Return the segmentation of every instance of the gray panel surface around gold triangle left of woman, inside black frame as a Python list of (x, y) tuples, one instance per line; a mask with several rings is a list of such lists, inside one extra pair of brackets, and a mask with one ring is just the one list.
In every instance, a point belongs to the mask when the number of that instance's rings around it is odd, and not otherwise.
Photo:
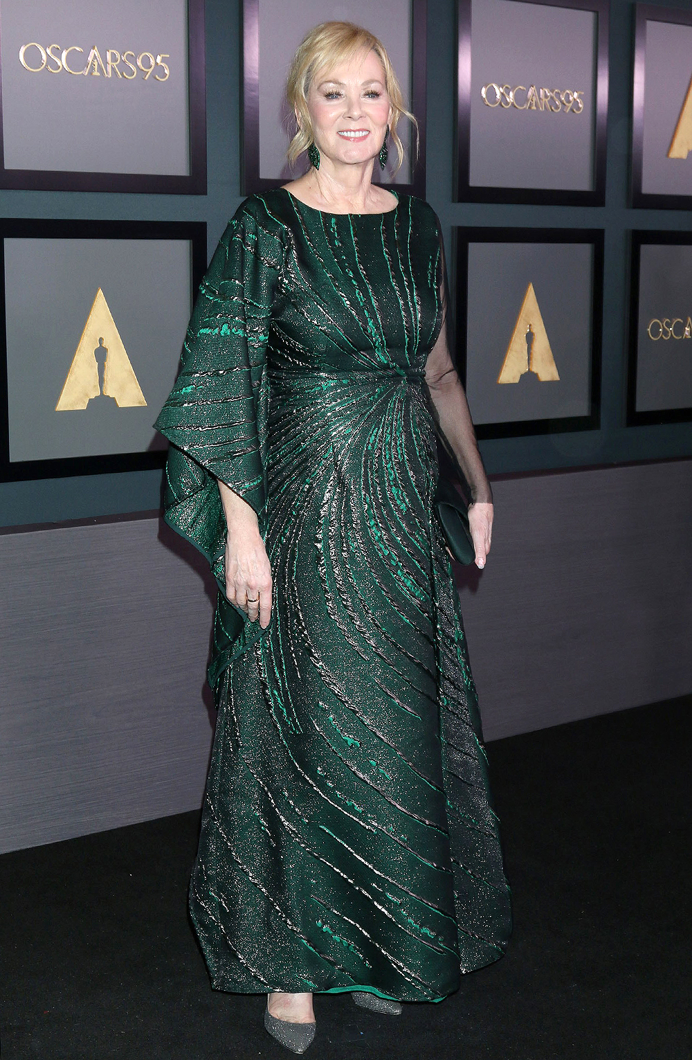
[[(5, 240), (10, 457), (139, 453), (173, 386), (191, 312), (187, 240)], [(100, 395), (55, 411), (96, 289), (103, 289), (146, 406)], [(161, 293), (164, 293), (163, 295)]]

